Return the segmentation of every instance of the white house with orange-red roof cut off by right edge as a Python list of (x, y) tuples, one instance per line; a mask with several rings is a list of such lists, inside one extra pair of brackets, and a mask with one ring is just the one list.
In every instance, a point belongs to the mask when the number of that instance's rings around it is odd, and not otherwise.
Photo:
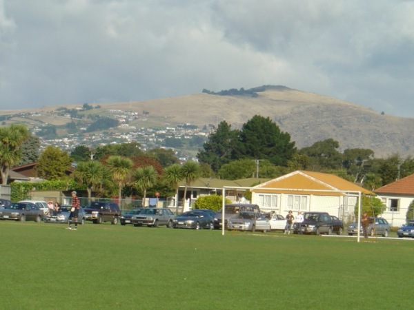
[(374, 192), (386, 205), (382, 217), (391, 226), (405, 224), (408, 207), (414, 200), (414, 174), (375, 189)]

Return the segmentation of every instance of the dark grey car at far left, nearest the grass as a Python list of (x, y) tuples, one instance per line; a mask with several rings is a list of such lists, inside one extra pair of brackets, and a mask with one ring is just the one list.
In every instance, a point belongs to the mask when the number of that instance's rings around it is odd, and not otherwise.
[(34, 203), (12, 203), (0, 211), (0, 220), (34, 220), (39, 223), (42, 218), (43, 210)]

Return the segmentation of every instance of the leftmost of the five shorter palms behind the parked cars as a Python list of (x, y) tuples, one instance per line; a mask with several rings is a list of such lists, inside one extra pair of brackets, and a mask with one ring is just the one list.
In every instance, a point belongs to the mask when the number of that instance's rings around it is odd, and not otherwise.
[(88, 200), (92, 196), (92, 189), (101, 185), (105, 176), (105, 167), (99, 161), (81, 161), (73, 174), (75, 180), (86, 185)]

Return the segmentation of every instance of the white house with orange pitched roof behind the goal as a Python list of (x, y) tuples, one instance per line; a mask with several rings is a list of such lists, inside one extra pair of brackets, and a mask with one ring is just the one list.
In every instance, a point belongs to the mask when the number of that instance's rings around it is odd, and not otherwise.
[(265, 212), (327, 211), (348, 222), (355, 219), (358, 192), (372, 192), (322, 172), (295, 171), (251, 189), (252, 203)]

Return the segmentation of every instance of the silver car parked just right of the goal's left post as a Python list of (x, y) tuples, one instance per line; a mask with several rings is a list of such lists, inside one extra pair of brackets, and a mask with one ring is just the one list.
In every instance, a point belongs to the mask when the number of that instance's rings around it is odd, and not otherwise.
[(270, 231), (270, 220), (259, 212), (239, 212), (227, 221), (228, 230)]

